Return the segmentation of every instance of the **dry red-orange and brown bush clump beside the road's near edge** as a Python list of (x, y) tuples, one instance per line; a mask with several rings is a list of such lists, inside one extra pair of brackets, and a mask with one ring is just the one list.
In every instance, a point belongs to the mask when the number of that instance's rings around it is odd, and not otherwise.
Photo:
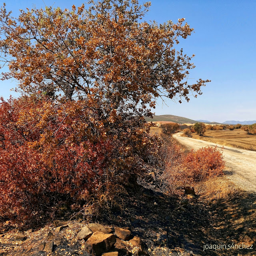
[(205, 147), (184, 153), (175, 142), (165, 143), (159, 151), (158, 164), (160, 178), (167, 181), (170, 188), (190, 186), (195, 182), (208, 180), (223, 174), (222, 152), (216, 147)]

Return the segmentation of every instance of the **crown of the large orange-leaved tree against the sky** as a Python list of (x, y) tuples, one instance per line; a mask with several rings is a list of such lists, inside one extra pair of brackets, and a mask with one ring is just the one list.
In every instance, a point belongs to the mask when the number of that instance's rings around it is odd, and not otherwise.
[[(100, 0), (72, 10), (27, 9), (12, 18), (0, 11), (2, 79), (15, 78), (25, 93), (52, 98), (94, 98), (103, 115), (110, 109), (150, 116), (158, 97), (189, 100), (201, 94), (208, 80), (188, 83), (194, 64), (179, 38), (193, 28), (184, 18), (177, 24), (141, 22), (150, 2)], [(59, 96), (59, 97), (60, 97)]]

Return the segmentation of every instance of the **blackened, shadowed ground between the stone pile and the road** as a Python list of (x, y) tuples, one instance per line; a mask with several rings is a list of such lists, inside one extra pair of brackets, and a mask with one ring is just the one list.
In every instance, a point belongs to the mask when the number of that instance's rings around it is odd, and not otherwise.
[[(223, 184), (220, 184), (220, 188), (215, 186), (215, 190), (209, 190), (209, 187), (202, 185), (198, 189), (201, 196), (190, 200), (186, 212), (177, 210), (173, 213), (169, 248), (166, 229), (177, 198), (157, 191), (154, 186), (149, 188), (140, 185), (128, 190), (124, 211), (106, 216), (104, 222), (130, 228), (133, 234), (146, 242), (152, 256), (255, 255), (255, 249), (239, 250), (235, 245), (256, 246), (256, 194), (246, 194), (229, 185), (223, 192), (221, 187), (224, 189)], [(206, 245), (212, 245), (213, 248), (206, 249)], [(222, 249), (214, 250), (214, 245), (221, 245)], [(228, 245), (231, 247), (225, 250), (224, 245), (226, 248)]]

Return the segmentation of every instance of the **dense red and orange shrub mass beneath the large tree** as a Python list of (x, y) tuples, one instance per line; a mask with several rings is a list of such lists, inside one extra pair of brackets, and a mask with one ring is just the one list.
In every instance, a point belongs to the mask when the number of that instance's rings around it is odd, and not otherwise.
[(0, 216), (33, 220), (135, 176), (152, 145), (144, 122), (115, 113), (103, 120), (98, 109), (85, 100), (2, 99)]

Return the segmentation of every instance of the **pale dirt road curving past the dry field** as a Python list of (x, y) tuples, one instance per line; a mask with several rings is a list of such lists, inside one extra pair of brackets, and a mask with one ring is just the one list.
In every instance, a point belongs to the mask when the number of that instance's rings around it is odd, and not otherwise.
[(194, 148), (198, 150), (205, 146), (217, 146), (219, 149), (224, 147), (223, 156), (226, 161), (225, 173), (227, 178), (237, 184), (242, 190), (256, 191), (256, 152), (222, 146), (204, 140), (181, 137), (181, 134), (181, 132), (178, 132), (173, 134), (173, 137), (189, 149)]

